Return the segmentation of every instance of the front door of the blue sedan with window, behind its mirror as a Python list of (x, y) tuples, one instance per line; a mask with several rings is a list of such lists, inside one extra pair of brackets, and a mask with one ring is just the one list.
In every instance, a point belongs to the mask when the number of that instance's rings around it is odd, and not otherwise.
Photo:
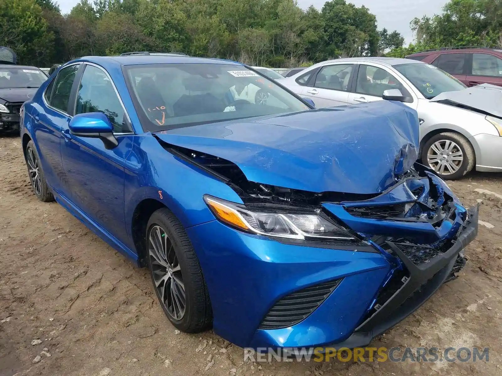
[(63, 129), (63, 169), (71, 185), (71, 201), (97, 225), (126, 243), (124, 219), (124, 162), (134, 134), (115, 88), (105, 71), (85, 65), (73, 114), (103, 112), (113, 126), (118, 146), (106, 149), (98, 138), (70, 134)]

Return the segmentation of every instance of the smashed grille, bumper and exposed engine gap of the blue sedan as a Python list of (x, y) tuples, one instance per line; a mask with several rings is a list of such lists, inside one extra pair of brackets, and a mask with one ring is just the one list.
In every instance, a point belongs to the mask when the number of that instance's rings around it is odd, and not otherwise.
[(395, 183), (379, 194), (313, 193), (250, 181), (229, 160), (159, 142), (188, 166), (228, 184), (241, 198), (241, 208), (312, 212), (348, 234), (346, 239), (312, 238), (311, 245), (356, 242), (354, 252), (382, 254), (390, 272), (359, 326), (343, 342), (347, 347), (369, 342), (455, 279), (466, 262), (463, 249), (477, 235), (478, 208), (466, 210), (442, 179), (418, 163), (396, 174)]

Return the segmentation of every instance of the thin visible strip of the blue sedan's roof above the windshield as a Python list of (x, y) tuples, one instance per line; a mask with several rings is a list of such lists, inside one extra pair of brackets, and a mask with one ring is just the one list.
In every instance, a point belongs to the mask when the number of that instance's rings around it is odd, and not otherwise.
[(197, 58), (186, 55), (127, 55), (127, 56), (84, 56), (75, 61), (87, 61), (98, 65), (143, 65), (143, 64), (230, 64), (242, 65), (231, 60)]

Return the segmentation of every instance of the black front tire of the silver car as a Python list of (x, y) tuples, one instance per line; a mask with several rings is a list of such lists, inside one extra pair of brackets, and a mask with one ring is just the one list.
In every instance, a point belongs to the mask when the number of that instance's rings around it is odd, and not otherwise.
[[(454, 144), (455, 146), (452, 149), (452, 155), (454, 155), (455, 158), (461, 157), (462, 161), (459, 160), (452, 161), (451, 159), (448, 159), (451, 158), (450, 153), (445, 152), (444, 154), (441, 153), (438, 154), (435, 150), (431, 149), (431, 147), (435, 145), (437, 150), (438, 144), (445, 146), (447, 144), (449, 144), (450, 146)], [(431, 153), (433, 154), (428, 154), (429, 150), (431, 150)], [(439, 149), (439, 151), (441, 152), (443, 150)], [(457, 155), (459, 154), (458, 153), (459, 151), (461, 152), (461, 156)], [(440, 161), (437, 162), (430, 162), (430, 160), (434, 159), (431, 158), (429, 160), (428, 155), (438, 155), (438, 157), (441, 157), (441, 159)], [(472, 145), (467, 140), (467, 138), (456, 132), (443, 132), (429, 138), (422, 148), (421, 157), (422, 157), (422, 163), (435, 169), (436, 173), (439, 176), (441, 176), (441, 178), (443, 178), (444, 180), (455, 180), (461, 178), (462, 176), (464, 176), (465, 174), (467, 174), (472, 170), (475, 163), (475, 155)], [(445, 167), (443, 168), (442, 172), (440, 172), (441, 171), (440, 163), (445, 164)], [(450, 167), (446, 165), (448, 163), (450, 166), (451, 163), (455, 164), (457, 169), (455, 170), (455, 166)]]

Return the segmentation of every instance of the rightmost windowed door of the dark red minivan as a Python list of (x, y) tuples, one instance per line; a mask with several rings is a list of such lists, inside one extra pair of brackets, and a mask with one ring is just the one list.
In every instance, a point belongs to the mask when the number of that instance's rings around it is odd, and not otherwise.
[(502, 86), (502, 59), (495, 54), (469, 54), (472, 68), (467, 75), (467, 86), (492, 84)]

